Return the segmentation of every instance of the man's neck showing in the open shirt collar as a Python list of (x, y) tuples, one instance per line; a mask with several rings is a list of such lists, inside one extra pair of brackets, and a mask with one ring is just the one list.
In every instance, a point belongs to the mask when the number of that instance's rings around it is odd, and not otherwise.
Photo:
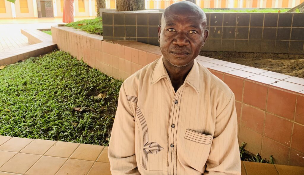
[(183, 67), (171, 65), (171, 63), (166, 58), (163, 58), (163, 62), (168, 72), (174, 91), (176, 92), (178, 88), (184, 84), (184, 81), (194, 64), (194, 61)]

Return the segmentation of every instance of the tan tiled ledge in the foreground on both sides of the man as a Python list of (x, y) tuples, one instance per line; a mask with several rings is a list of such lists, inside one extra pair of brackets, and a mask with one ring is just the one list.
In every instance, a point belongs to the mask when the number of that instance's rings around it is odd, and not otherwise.
[[(110, 175), (108, 147), (0, 136), (0, 175)], [(242, 175), (300, 175), (304, 167), (242, 162)]]

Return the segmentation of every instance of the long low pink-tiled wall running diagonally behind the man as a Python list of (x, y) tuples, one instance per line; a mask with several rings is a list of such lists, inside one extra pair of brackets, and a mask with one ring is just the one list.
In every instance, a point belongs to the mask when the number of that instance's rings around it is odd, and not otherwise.
[[(102, 41), (102, 36), (52, 27), (59, 49), (89, 66), (126, 79), (161, 56), (159, 47), (136, 41)], [(304, 166), (304, 79), (204, 56), (197, 61), (234, 92), (239, 142), (277, 164)]]

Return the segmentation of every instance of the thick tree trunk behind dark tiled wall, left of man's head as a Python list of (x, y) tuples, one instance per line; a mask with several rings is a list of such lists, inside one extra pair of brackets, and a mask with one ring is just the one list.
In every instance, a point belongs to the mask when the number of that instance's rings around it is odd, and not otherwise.
[(116, 0), (116, 12), (145, 10), (145, 0)]

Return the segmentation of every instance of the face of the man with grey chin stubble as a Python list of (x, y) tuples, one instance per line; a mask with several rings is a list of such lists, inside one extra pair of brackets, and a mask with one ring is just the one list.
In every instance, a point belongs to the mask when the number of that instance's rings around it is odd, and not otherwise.
[(188, 65), (200, 52), (208, 37), (203, 20), (189, 12), (170, 13), (158, 26), (161, 53), (177, 67)]

